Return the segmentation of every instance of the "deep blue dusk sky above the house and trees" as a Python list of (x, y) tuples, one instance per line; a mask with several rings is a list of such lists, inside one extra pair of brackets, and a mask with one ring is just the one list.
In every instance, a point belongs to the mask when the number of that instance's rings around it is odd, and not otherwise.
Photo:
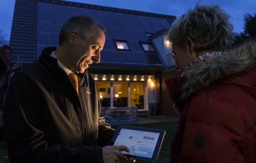
[[(187, 9), (193, 8), (198, 0), (68, 0), (85, 4), (130, 9), (135, 11), (173, 15), (179, 17)], [(0, 0), (0, 31), (9, 40), (15, 0)], [(256, 13), (256, 0), (201, 0), (200, 4), (218, 4), (231, 17), (234, 32), (240, 33), (244, 29), (244, 15)]]

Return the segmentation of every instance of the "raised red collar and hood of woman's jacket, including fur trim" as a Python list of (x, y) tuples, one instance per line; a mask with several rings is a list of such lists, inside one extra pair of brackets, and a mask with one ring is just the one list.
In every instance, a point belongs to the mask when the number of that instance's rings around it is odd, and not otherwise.
[[(220, 80), (238, 85), (256, 98), (256, 45), (254, 46), (241, 46), (225, 55), (197, 58), (190, 70), (181, 77), (166, 80), (168, 92), (177, 108), (194, 93)], [(251, 48), (253, 49), (250, 50)]]

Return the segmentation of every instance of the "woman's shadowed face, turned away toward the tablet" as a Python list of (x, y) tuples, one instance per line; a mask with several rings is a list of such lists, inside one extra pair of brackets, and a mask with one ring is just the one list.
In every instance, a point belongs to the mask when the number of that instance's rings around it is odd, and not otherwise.
[(194, 59), (196, 59), (196, 54), (194, 51), (189, 51), (190, 46), (186, 44), (184, 47), (179, 47), (172, 45), (172, 54), (175, 56), (176, 66), (179, 67), (180, 71), (184, 70)]

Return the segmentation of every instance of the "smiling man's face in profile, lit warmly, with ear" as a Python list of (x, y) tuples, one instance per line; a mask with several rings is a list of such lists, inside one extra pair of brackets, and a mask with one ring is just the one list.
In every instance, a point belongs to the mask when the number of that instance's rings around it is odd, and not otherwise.
[(99, 63), (104, 44), (105, 34), (99, 28), (95, 28), (94, 35), (85, 40), (78, 36), (73, 46), (73, 55), (69, 58), (71, 71), (84, 73), (90, 64)]

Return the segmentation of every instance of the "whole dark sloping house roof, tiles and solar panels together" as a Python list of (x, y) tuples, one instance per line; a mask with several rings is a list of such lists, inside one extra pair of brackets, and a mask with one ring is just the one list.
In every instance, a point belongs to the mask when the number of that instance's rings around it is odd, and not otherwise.
[[(58, 46), (63, 23), (73, 15), (94, 17), (107, 29), (99, 65), (161, 67), (157, 53), (145, 52), (140, 42), (150, 42), (147, 33), (169, 28), (175, 16), (103, 7), (60, 0), (16, 0), (10, 47), (19, 61), (37, 60), (41, 50)], [(125, 40), (130, 51), (120, 51), (115, 40)]]

